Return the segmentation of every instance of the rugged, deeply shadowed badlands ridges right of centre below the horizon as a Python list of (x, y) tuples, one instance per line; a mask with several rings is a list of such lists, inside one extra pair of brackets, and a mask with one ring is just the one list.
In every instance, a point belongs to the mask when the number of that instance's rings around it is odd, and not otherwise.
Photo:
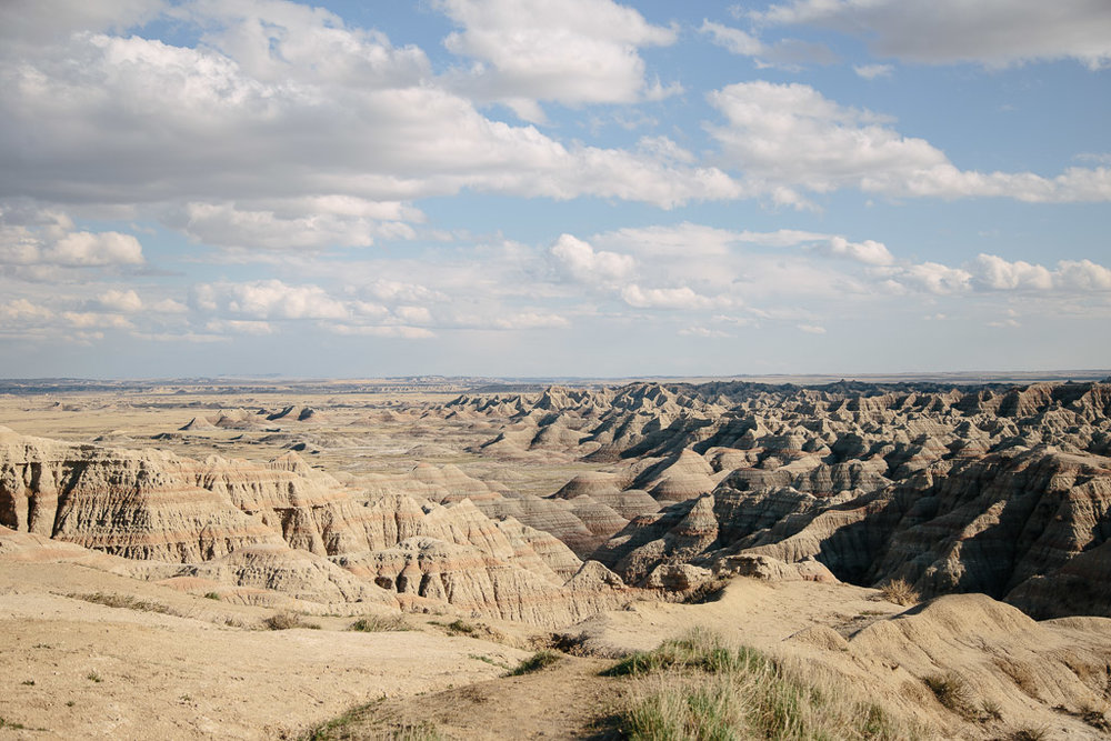
[[(618, 467), (564, 490), (662, 507), (621, 511), (629, 524), (590, 553), (630, 583), (752, 553), (1035, 617), (1111, 615), (1107, 383), (631, 384), (444, 409), (506, 415), (491, 454), (558, 439)], [(544, 435), (553, 425), (575, 435)]]

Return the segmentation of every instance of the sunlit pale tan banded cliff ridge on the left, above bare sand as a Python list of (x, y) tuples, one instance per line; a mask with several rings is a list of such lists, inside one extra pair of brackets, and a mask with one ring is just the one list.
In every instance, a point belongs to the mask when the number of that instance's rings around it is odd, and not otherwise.
[(122, 557), (150, 578), (553, 625), (627, 599), (604, 568), (466, 497), (357, 494), (293, 453), (196, 461), (0, 431), (0, 524)]

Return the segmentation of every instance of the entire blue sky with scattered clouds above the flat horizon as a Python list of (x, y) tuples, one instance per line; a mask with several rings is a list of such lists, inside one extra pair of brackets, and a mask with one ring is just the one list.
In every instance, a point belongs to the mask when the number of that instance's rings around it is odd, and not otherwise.
[(3, 0), (0, 377), (1111, 368), (1107, 0)]

